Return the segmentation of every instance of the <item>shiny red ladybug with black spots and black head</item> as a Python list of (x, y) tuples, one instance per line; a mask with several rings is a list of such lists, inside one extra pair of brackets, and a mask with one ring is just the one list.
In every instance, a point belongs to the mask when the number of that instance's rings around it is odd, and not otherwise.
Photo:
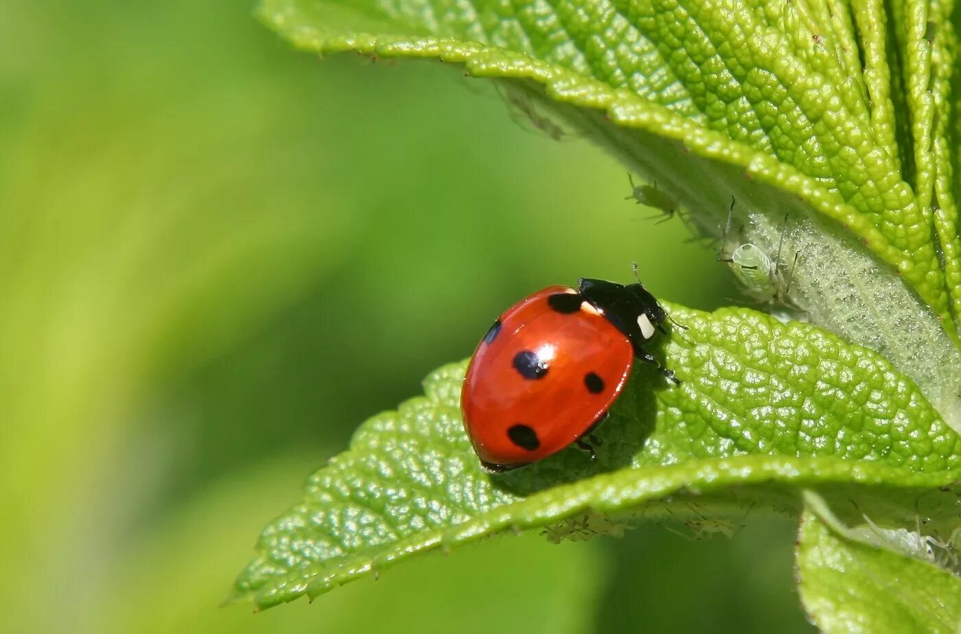
[(480, 340), (460, 394), (483, 467), (516, 469), (572, 443), (591, 451), (581, 438), (621, 394), (634, 357), (660, 367), (644, 345), (667, 333), (667, 318), (640, 280), (548, 286), (508, 308)]

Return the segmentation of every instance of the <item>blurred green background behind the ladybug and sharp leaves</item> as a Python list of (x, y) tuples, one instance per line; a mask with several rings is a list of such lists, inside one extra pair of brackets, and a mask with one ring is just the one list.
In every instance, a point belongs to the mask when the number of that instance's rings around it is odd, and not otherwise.
[(0, 629), (808, 629), (794, 527), (760, 516), (219, 607), (306, 476), (506, 305), (634, 260), (685, 305), (737, 292), (613, 158), (455, 68), (318, 61), (244, 2), (3, 4)]

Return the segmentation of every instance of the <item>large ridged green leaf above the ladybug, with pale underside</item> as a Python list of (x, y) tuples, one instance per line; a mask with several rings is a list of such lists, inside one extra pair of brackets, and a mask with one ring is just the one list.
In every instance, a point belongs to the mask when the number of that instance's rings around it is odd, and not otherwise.
[[(949, 5), (261, 0), (300, 49), (462, 64), (577, 126), (697, 232), (800, 254), (788, 293), (961, 430)], [(860, 55), (859, 55), (860, 53)], [(518, 95), (520, 95), (518, 97)], [(919, 301), (919, 299), (921, 301)]]

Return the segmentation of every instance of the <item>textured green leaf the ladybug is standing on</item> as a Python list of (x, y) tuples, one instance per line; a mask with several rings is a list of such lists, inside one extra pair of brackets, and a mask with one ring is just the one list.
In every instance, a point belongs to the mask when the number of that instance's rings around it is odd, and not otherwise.
[[(459, 410), (464, 364), (441, 368), (424, 398), (359, 427), (350, 450), (269, 524), (236, 582), (260, 607), (315, 597), (416, 552), (504, 531), (614, 532), (625, 524), (745, 508), (800, 510), (797, 488), (830, 483), (903, 522), (916, 505), (955, 512), (961, 438), (917, 386), (871, 351), (744, 309), (668, 305), (657, 354), (681, 379), (638, 368), (600, 427), (597, 459), (562, 451), (504, 476), (481, 469)], [(710, 510), (708, 510), (710, 509)]]

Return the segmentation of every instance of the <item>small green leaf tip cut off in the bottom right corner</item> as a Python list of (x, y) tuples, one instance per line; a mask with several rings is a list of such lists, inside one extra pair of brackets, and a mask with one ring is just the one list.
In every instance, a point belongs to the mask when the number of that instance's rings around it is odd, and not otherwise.
[(825, 632), (945, 632), (961, 625), (961, 579), (850, 536), (810, 494), (797, 547), (801, 599)]

